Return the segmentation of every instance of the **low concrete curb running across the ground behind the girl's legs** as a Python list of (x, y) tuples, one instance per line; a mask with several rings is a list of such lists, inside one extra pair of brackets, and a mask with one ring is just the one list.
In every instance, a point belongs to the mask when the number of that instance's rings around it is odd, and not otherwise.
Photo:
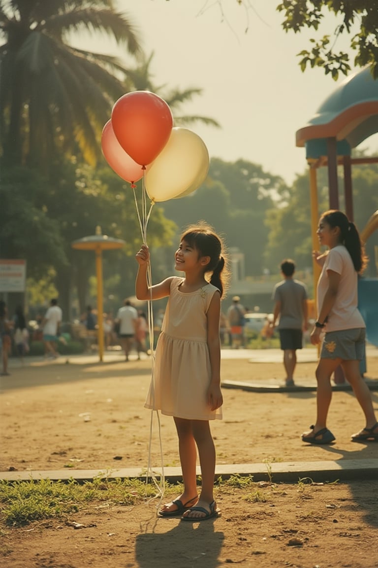
[[(161, 467), (154, 467), (153, 473), (160, 477)], [(197, 475), (201, 470), (197, 467)], [(228, 479), (232, 475), (253, 476), (253, 481), (273, 481), (275, 483), (298, 483), (299, 479), (310, 478), (315, 482), (358, 481), (378, 478), (378, 459), (371, 460), (340, 460), (318, 462), (273, 462), (273, 463), (233, 463), (219, 465), (215, 477)], [(165, 467), (164, 477), (175, 483), (182, 480), (180, 467)], [(146, 479), (146, 470), (134, 467), (108, 470), (42, 470), (42, 471), (1, 471), (0, 479), (9, 482), (39, 481), (69, 481), (75, 479), (79, 483), (93, 481), (95, 478), (108, 479)]]

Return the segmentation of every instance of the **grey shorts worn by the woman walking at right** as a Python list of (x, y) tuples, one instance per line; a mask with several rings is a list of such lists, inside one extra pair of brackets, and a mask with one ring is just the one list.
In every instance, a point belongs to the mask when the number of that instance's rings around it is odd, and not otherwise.
[(326, 332), (320, 358), (362, 361), (365, 356), (365, 336), (363, 327)]

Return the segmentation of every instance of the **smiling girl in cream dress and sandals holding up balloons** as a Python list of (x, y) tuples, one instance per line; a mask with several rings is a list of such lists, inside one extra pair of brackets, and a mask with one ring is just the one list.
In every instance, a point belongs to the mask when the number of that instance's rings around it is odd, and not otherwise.
[[(148, 287), (150, 252), (143, 245), (136, 255), (135, 293), (139, 300), (169, 296), (156, 345), (155, 381), (145, 406), (175, 420), (184, 491), (165, 504), (159, 515), (201, 521), (220, 513), (213, 495), (215, 448), (209, 420), (222, 418), (219, 315), (226, 270), (222, 282), (222, 241), (207, 225), (189, 227), (180, 241), (175, 268), (185, 277), (171, 276)], [(206, 274), (211, 274), (210, 283)], [(202, 474), (199, 498), (196, 446)]]

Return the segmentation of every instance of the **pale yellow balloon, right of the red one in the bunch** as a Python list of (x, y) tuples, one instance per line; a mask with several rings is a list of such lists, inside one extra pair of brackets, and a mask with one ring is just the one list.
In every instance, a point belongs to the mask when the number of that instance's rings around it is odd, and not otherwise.
[(203, 140), (187, 128), (172, 128), (162, 152), (146, 173), (152, 201), (167, 201), (195, 191), (209, 171), (209, 152)]

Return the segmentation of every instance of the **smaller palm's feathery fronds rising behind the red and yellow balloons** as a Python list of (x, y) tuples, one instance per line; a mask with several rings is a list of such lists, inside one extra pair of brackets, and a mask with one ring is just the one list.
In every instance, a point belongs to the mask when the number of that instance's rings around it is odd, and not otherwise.
[(180, 91), (179, 89), (167, 90), (167, 85), (155, 85), (150, 70), (151, 61), (154, 55), (154, 52), (152, 52), (150, 57), (142, 56), (142, 60), (138, 61), (138, 65), (135, 68), (126, 70), (129, 80), (134, 85), (134, 89), (138, 91), (152, 91), (152, 93), (156, 93), (162, 97), (172, 110), (176, 126), (188, 126), (194, 122), (201, 122), (202, 124), (208, 124), (209, 126), (219, 128), (219, 123), (213, 118), (209, 118), (207, 116), (188, 116), (179, 114), (182, 105), (188, 101), (192, 101), (193, 97), (196, 95), (201, 95), (202, 89), (189, 87), (184, 91)]

